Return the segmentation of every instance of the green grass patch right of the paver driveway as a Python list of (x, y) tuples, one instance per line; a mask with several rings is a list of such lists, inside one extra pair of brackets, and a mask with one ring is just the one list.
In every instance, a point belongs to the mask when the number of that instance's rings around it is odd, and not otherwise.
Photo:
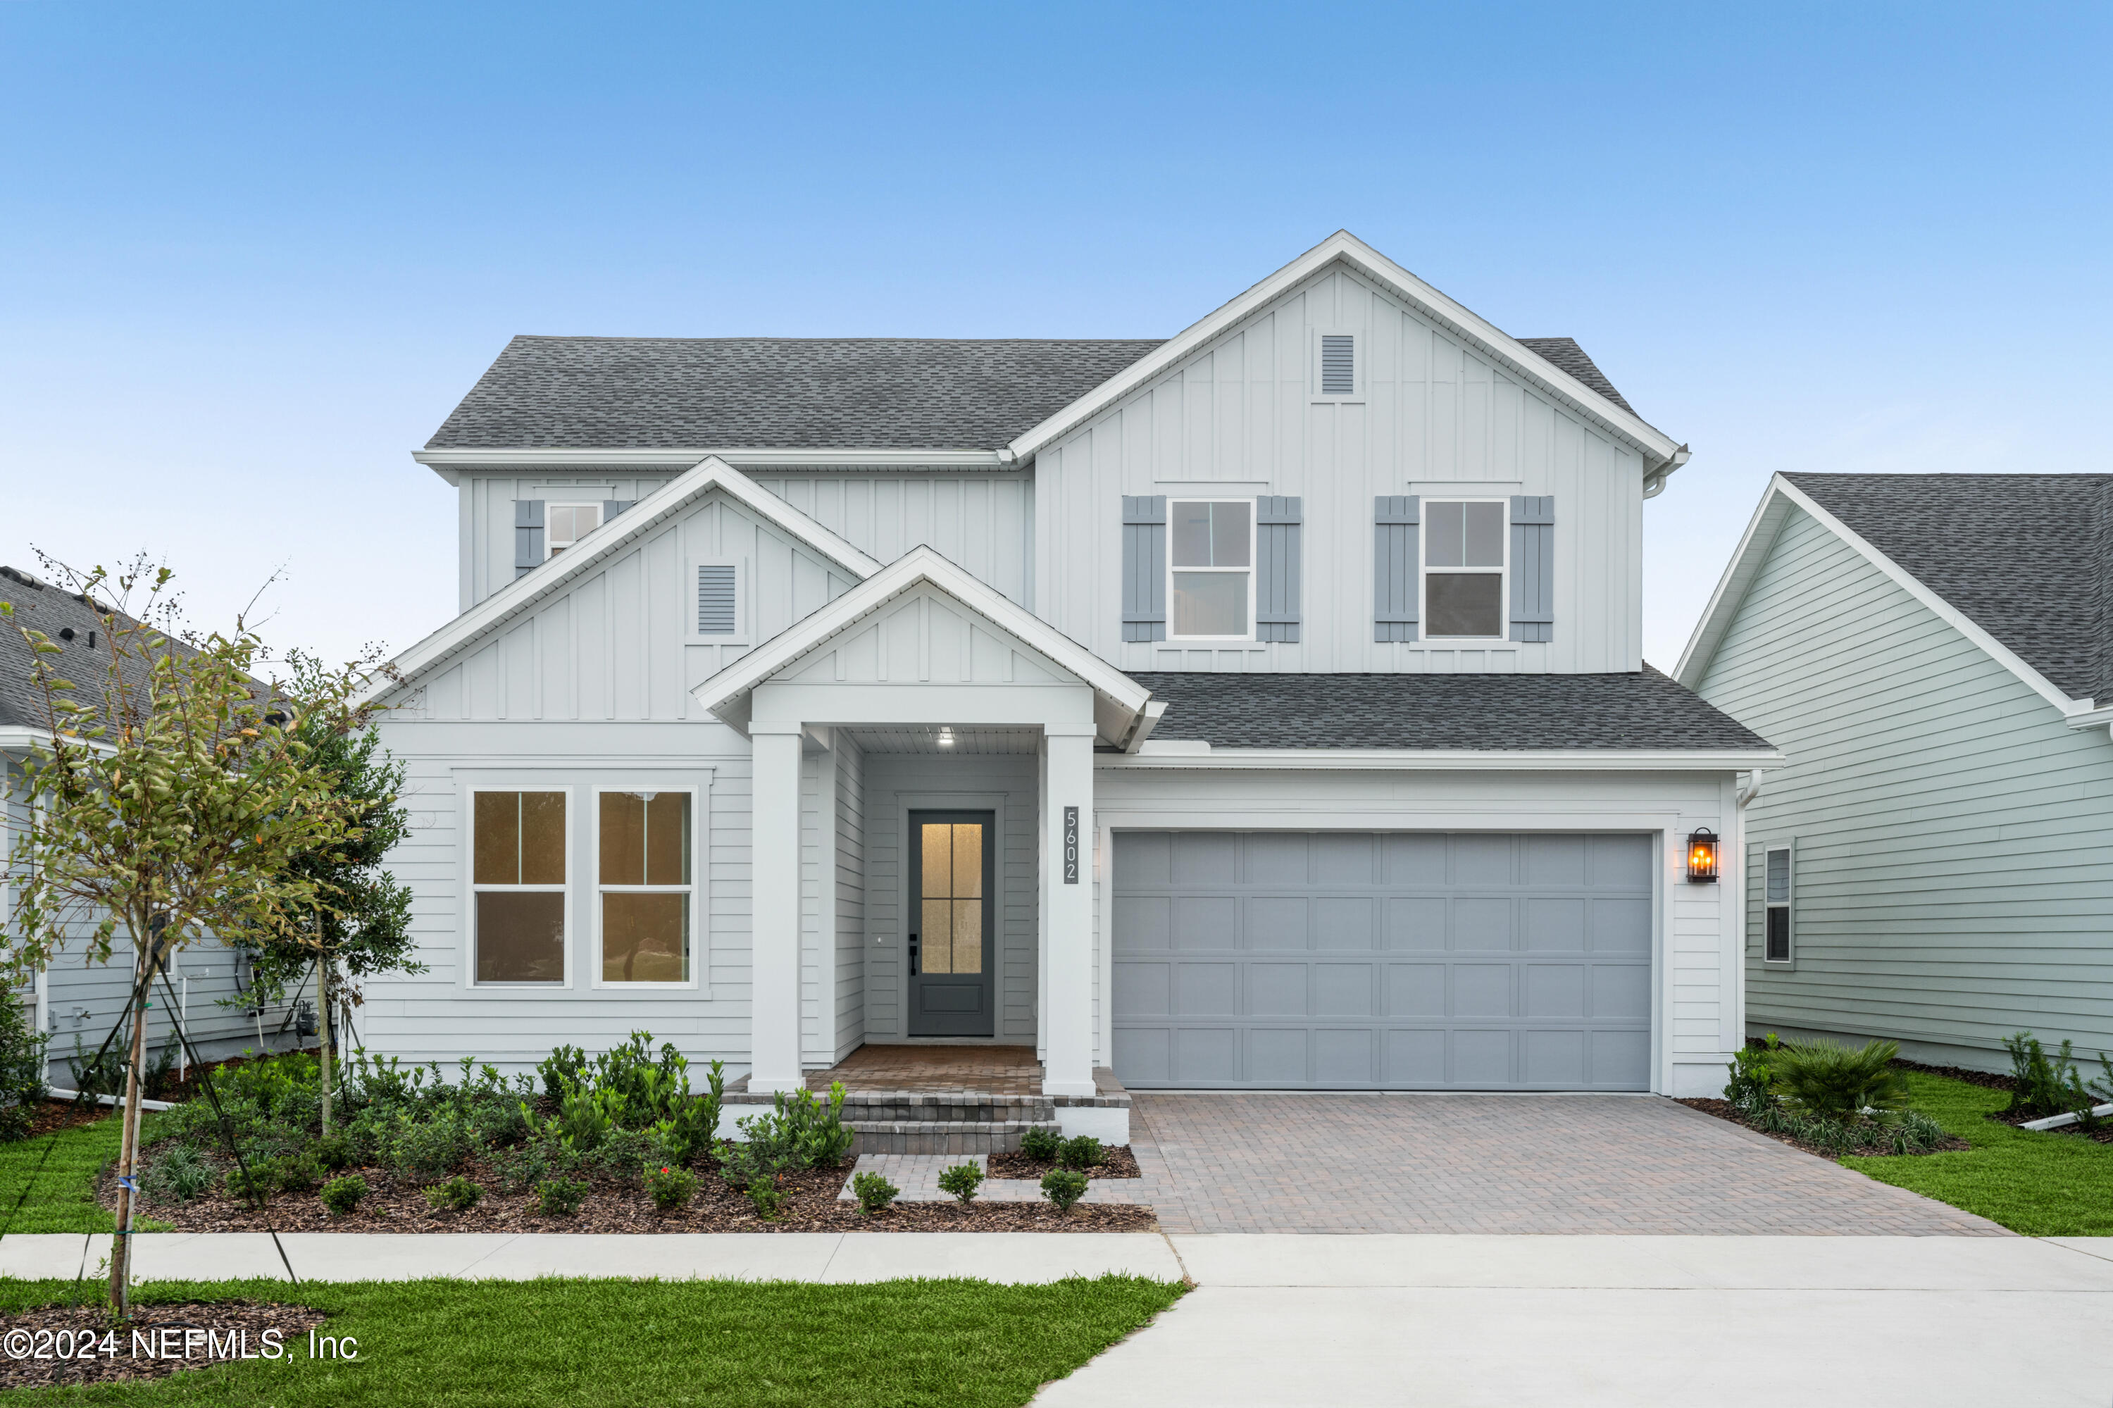
[(1843, 1165), (2028, 1237), (2113, 1237), (2113, 1144), (1982, 1118), (2009, 1101), (2003, 1091), (1925, 1072), (1908, 1072), (1908, 1085), (1916, 1110), (1974, 1148)]

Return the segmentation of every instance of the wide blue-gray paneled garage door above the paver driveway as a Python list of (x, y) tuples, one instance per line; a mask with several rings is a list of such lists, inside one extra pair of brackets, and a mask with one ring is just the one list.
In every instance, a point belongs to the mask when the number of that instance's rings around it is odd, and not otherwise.
[(1135, 1089), (1650, 1085), (1650, 837), (1118, 831)]

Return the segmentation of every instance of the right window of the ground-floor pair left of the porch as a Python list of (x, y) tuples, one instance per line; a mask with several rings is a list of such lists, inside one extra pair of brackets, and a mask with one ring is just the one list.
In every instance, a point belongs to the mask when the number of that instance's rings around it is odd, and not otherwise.
[(687, 789), (596, 793), (598, 985), (691, 981), (693, 801)]

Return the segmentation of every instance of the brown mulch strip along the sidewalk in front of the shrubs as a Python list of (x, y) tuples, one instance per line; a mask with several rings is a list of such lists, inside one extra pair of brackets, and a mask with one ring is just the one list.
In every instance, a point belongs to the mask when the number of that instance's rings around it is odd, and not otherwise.
[[(347, 1218), (332, 1218), (313, 1192), (279, 1192), (264, 1211), (226, 1197), (218, 1186), (190, 1203), (142, 1203), (139, 1211), (177, 1233), (1156, 1233), (1149, 1207), (1084, 1205), (1059, 1214), (1048, 1203), (896, 1203), (864, 1216), (839, 1201), (852, 1165), (805, 1169), (784, 1180), (778, 1218), (765, 1222), (748, 1197), (718, 1173), (697, 1171), (697, 1197), (682, 1211), (653, 1207), (644, 1188), (613, 1178), (587, 1178), (590, 1192), (573, 1216), (545, 1216), (532, 1192), (501, 1192), (482, 1163), (465, 1173), (484, 1188), (469, 1211), (433, 1211), (425, 1188), (382, 1169), (357, 1169), (368, 1197)], [(104, 1175), (97, 1197), (116, 1207), (116, 1184)]]

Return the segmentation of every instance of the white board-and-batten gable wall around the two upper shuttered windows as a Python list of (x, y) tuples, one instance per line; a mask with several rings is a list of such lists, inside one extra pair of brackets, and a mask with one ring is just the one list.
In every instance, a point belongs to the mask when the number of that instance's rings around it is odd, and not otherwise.
[[(1314, 400), (1357, 332), (1365, 395)], [(1122, 641), (1122, 497), (1304, 501), (1299, 641)], [(1553, 497), (1555, 630), (1373, 641), (1373, 499)], [(1642, 666), (1642, 459), (1344, 268), (1257, 311), (1035, 463), (1035, 611), (1126, 670), (1606, 672)]]

